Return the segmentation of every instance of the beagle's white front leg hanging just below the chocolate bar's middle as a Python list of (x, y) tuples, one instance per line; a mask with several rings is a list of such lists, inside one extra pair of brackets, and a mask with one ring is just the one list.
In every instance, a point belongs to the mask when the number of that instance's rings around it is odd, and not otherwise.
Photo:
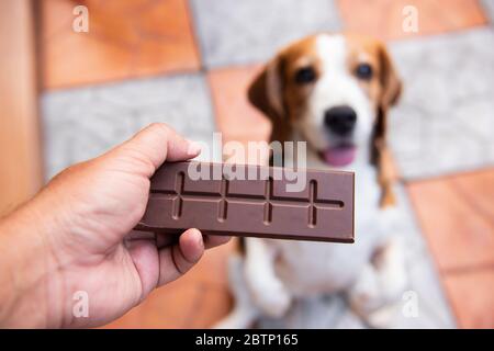
[(246, 240), (245, 276), (254, 303), (270, 317), (283, 316), (292, 296), (274, 271), (274, 248), (265, 239)]

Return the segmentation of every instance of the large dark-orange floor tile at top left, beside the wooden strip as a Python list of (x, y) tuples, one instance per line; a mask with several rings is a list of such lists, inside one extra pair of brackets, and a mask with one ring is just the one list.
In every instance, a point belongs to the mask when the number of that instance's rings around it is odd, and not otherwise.
[[(72, 31), (76, 3), (89, 33)], [(200, 68), (187, 0), (44, 0), (42, 81), (64, 88)]]

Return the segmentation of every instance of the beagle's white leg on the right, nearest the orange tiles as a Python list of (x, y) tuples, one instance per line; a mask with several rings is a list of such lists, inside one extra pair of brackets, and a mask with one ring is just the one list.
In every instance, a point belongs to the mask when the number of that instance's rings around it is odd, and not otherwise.
[(370, 326), (385, 327), (407, 285), (402, 245), (390, 239), (380, 247), (349, 292), (351, 308)]

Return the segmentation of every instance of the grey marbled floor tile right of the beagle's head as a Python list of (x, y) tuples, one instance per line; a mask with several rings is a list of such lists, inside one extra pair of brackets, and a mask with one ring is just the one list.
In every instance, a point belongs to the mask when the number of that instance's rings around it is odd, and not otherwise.
[(407, 179), (494, 165), (494, 31), (391, 45), (404, 95), (390, 141)]

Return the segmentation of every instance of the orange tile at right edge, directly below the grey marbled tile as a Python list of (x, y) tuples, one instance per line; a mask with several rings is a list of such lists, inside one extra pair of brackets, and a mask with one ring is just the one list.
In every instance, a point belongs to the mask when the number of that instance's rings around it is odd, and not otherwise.
[(442, 272), (494, 264), (494, 170), (407, 185)]

